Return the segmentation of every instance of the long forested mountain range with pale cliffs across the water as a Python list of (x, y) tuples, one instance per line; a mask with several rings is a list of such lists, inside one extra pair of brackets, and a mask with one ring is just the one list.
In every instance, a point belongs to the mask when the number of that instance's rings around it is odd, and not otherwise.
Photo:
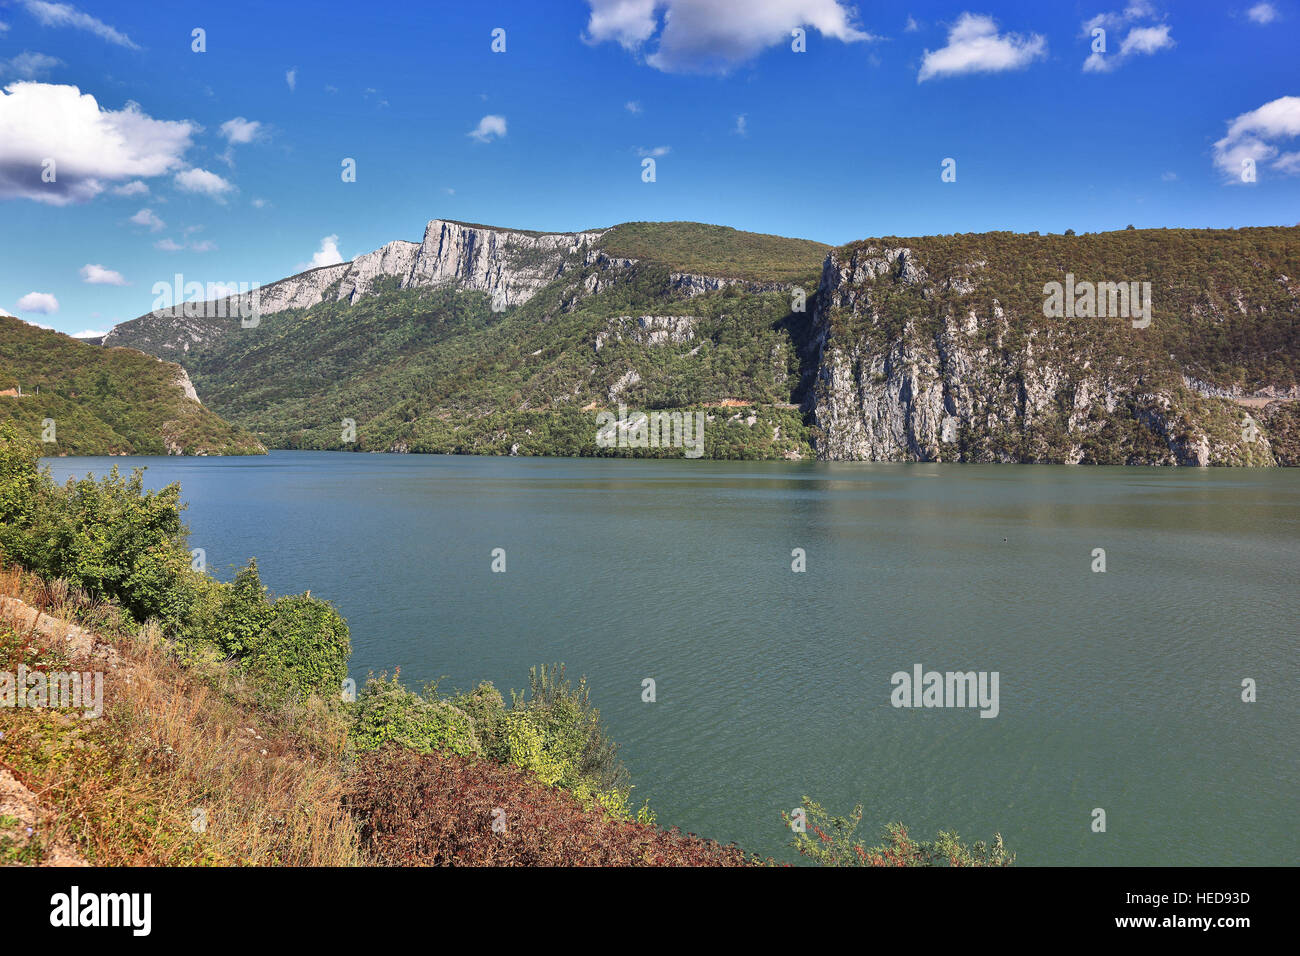
[[(710, 458), (1294, 464), (1297, 271), (1280, 226), (832, 248), (433, 220), (104, 346), (182, 363), (269, 447), (677, 457), (601, 444), (595, 421), (680, 411), (705, 416)], [(1145, 321), (1124, 312), (1143, 295)]]

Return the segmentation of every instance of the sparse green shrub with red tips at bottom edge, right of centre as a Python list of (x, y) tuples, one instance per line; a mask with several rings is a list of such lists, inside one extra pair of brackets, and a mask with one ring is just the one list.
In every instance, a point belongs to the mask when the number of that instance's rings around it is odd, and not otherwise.
[[(941, 830), (933, 840), (914, 840), (902, 823), (884, 827), (884, 843), (867, 847), (857, 839), (862, 804), (848, 817), (832, 816), (820, 804), (803, 797), (802, 830), (794, 831), (790, 847), (823, 866), (1010, 866), (1015, 853), (1006, 849), (1002, 835), (993, 843), (965, 844), (956, 832)], [(790, 814), (781, 814), (792, 823)]]

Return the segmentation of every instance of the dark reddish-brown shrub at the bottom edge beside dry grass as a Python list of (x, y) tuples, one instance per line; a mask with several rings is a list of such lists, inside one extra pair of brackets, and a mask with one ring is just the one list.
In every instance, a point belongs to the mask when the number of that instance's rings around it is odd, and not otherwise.
[(734, 847), (611, 819), (512, 766), (386, 747), (351, 779), (369, 857), (393, 866), (745, 866)]

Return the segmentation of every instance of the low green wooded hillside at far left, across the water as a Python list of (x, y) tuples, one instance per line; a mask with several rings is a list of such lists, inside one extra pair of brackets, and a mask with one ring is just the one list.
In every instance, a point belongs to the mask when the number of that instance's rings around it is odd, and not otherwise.
[(221, 455), (265, 449), (187, 398), (178, 365), (133, 349), (101, 349), (0, 316), (0, 423), (43, 441), (47, 455)]

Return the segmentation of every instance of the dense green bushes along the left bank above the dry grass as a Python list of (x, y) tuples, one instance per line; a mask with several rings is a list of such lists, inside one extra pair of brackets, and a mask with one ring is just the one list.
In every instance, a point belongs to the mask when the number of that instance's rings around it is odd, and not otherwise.
[(269, 696), (337, 700), (351, 653), (343, 618), (306, 594), (270, 601), (255, 561), (230, 584), (192, 570), (182, 507), (179, 485), (147, 492), (143, 470), (58, 486), (31, 440), (0, 424), (5, 559), (156, 619), (188, 656), (230, 659)]

